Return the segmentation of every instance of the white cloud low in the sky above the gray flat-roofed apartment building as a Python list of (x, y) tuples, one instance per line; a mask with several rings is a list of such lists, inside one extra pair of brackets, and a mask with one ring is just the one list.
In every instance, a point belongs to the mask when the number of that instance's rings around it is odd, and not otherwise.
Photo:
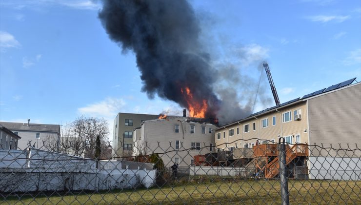
[(110, 118), (115, 117), (125, 104), (123, 99), (107, 98), (101, 102), (80, 107), (78, 111), (86, 116)]

